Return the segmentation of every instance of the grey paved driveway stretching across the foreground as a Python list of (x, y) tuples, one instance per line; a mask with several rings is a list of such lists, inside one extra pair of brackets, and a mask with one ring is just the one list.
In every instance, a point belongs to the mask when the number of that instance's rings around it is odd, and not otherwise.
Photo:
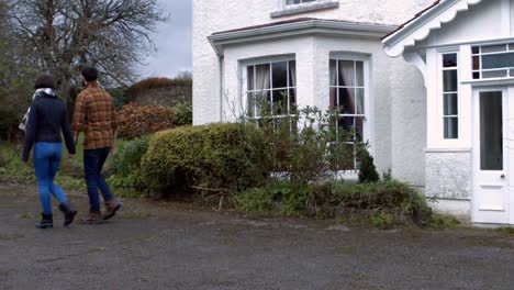
[[(71, 196), (82, 210), (83, 196)], [(247, 220), (128, 200), (108, 224), (37, 230), (0, 183), (0, 289), (514, 289), (514, 236)], [(58, 215), (60, 217), (60, 214)]]

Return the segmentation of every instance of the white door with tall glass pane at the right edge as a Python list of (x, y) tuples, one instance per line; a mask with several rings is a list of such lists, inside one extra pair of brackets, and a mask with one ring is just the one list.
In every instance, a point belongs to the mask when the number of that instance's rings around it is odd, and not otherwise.
[(473, 94), (473, 222), (509, 224), (507, 89), (477, 89)]

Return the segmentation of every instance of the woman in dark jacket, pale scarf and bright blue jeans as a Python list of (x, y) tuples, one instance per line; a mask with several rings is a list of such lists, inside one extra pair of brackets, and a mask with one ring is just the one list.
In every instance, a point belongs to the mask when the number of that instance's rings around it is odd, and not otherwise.
[(59, 201), (59, 210), (65, 216), (64, 225), (69, 225), (77, 211), (70, 205), (65, 192), (54, 183), (63, 156), (63, 138), (69, 154), (75, 154), (74, 137), (68, 122), (66, 104), (57, 98), (55, 81), (52, 76), (41, 76), (35, 82), (35, 93), (25, 121), (25, 137), (23, 144), (23, 160), (34, 147), (34, 170), (43, 207), (40, 228), (53, 227), (52, 200), (53, 194)]

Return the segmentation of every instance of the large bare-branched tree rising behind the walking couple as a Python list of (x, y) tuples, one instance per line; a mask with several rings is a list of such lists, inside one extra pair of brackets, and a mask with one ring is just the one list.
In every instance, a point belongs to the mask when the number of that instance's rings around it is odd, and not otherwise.
[(32, 64), (68, 93), (88, 65), (104, 85), (131, 82), (134, 65), (155, 52), (150, 33), (167, 16), (156, 0), (16, 0), (9, 20)]

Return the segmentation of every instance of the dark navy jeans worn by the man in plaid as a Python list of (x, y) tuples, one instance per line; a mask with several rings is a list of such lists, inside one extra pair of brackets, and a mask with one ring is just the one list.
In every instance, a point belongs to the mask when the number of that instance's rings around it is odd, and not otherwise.
[(102, 176), (103, 164), (109, 156), (110, 147), (83, 150), (83, 175), (89, 197), (89, 212), (100, 213), (100, 197), (98, 189), (102, 192), (105, 202), (112, 200), (114, 196), (109, 189)]

